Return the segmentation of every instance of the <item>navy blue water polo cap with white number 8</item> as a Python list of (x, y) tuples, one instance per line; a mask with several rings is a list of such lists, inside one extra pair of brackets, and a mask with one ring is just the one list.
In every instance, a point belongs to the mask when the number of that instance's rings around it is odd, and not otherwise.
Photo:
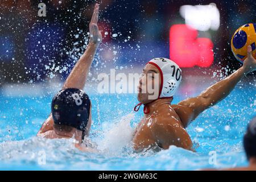
[(75, 127), (84, 133), (90, 115), (90, 99), (83, 90), (60, 90), (52, 99), (51, 109), (55, 124)]

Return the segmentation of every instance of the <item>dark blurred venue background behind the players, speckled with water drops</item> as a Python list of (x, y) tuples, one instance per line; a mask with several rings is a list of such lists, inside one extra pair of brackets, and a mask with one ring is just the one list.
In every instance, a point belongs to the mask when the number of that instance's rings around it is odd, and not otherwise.
[[(46, 3), (46, 17), (38, 16), (40, 2)], [(0, 86), (48, 82), (54, 78), (63, 81), (85, 50), (95, 2), (2, 0)], [(222, 67), (230, 68), (229, 73), (239, 68), (241, 63), (232, 54), (230, 39), (242, 24), (256, 22), (254, 1), (104, 0), (98, 1), (99, 27), (104, 39), (91, 72), (97, 74), (107, 68), (141, 70), (152, 57), (169, 57), (170, 27), (184, 23), (180, 6), (212, 2), (220, 11), (220, 27), (207, 32), (214, 44), (214, 63), (209, 68), (183, 70), (213, 76), (218, 69), (225, 72)]]

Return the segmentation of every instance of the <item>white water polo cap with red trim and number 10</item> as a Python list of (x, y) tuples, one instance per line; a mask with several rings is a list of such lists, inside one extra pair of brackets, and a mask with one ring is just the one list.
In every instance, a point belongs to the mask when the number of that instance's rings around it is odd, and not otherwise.
[[(156, 68), (158, 68), (160, 72), (161, 85), (159, 88), (159, 95), (157, 99), (171, 98), (172, 96), (174, 96), (181, 82), (180, 67), (176, 63), (174, 63), (174, 61), (163, 57), (154, 58), (148, 61), (147, 64), (154, 65)], [(141, 105), (142, 103), (139, 103), (137, 106), (135, 106), (134, 111), (138, 111)], [(144, 113), (149, 113), (149, 109), (146, 106), (144, 107)]]

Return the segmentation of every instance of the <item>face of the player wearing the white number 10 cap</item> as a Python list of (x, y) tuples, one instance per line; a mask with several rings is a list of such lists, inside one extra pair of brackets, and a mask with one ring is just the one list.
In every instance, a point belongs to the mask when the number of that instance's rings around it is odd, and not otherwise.
[(147, 104), (158, 98), (161, 84), (160, 72), (152, 64), (147, 64), (144, 69), (138, 85), (138, 101)]

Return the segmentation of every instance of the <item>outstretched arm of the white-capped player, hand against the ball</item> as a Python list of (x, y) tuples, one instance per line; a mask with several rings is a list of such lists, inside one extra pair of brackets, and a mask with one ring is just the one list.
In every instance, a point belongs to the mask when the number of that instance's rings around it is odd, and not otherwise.
[(251, 46), (248, 46), (247, 58), (243, 62), (242, 67), (232, 73), (232, 75), (210, 86), (199, 96), (188, 98), (174, 106), (175, 111), (181, 116), (181, 121), (183, 121), (185, 127), (205, 109), (217, 104), (228, 96), (243, 76), (256, 70), (256, 60), (251, 55), (251, 51)]

